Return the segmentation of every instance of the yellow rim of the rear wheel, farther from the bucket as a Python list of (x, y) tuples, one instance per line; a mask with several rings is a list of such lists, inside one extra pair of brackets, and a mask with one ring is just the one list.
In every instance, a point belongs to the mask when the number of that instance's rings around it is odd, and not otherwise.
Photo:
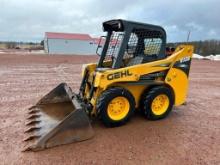
[(170, 104), (170, 100), (167, 95), (165, 94), (158, 95), (153, 99), (153, 102), (151, 104), (152, 112), (155, 115), (162, 115), (167, 111), (169, 104)]

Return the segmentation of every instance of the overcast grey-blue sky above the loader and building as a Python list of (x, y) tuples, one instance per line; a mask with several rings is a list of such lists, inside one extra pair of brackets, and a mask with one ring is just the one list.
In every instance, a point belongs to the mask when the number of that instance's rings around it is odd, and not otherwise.
[(163, 26), (168, 41), (220, 39), (219, 0), (0, 0), (0, 40), (40, 41), (44, 32), (102, 35), (122, 18)]

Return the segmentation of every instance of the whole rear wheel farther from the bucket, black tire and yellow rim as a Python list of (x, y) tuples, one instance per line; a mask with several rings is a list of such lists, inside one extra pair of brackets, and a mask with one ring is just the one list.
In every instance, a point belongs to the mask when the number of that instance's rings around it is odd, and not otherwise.
[(143, 112), (147, 119), (163, 119), (172, 110), (174, 96), (171, 89), (164, 86), (158, 86), (152, 88), (145, 95), (143, 103)]

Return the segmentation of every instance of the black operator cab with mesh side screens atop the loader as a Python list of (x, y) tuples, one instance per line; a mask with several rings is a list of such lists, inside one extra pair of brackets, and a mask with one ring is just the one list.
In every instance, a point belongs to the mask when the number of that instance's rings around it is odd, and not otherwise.
[(126, 20), (103, 23), (107, 32), (97, 68), (118, 69), (166, 58), (166, 32), (156, 25)]

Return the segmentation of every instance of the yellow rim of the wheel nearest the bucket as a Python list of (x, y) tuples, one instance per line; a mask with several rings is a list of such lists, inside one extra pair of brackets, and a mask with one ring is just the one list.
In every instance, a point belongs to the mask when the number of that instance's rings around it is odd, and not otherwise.
[(128, 99), (125, 97), (116, 97), (110, 101), (107, 108), (107, 113), (110, 119), (118, 121), (124, 119), (130, 109)]

